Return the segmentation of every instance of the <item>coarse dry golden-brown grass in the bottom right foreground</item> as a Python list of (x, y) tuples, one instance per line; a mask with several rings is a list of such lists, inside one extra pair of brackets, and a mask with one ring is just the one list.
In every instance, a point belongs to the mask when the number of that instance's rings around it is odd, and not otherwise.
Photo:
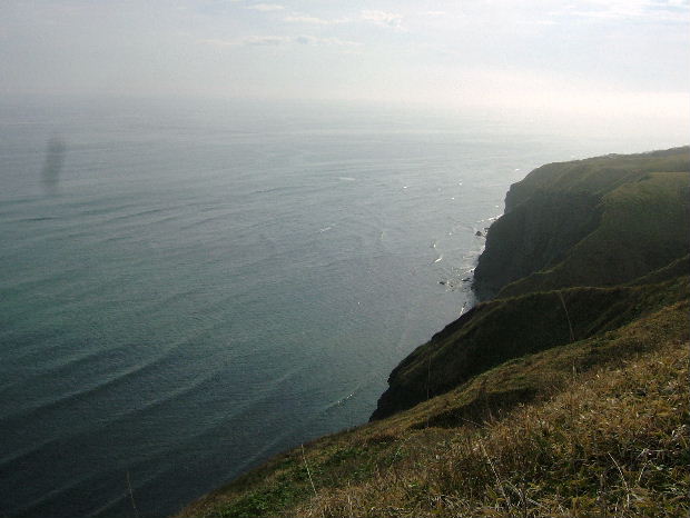
[[(405, 458), (287, 516), (687, 516), (690, 347), (576, 375), (480, 428), (418, 432)], [(431, 430), (430, 430), (431, 431)]]

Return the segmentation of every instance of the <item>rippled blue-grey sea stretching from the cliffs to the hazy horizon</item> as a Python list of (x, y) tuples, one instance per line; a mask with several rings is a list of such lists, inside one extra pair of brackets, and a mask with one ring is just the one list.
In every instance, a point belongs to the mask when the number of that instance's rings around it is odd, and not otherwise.
[(520, 127), (4, 102), (0, 515), (135, 516), (129, 479), (139, 514), (165, 516), (366, 421), (391, 369), (472, 303), (475, 232), (510, 183), (663, 147)]

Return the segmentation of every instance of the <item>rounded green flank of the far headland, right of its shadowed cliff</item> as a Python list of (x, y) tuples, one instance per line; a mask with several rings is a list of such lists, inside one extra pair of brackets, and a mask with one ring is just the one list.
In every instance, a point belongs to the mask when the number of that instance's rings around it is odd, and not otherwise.
[(690, 173), (650, 173), (602, 199), (600, 225), (555, 267), (504, 287), (510, 297), (564, 286), (612, 286), (690, 251)]

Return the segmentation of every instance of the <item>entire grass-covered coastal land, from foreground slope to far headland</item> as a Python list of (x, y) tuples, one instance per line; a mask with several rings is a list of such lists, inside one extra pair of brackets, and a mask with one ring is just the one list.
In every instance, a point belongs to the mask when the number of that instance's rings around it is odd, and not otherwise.
[[(533, 171), (484, 252), (509, 263), (505, 250), (533, 246), (521, 252), (545, 256), (532, 271), (494, 282), (499, 298), (404, 359), (371, 422), (179, 516), (688, 516), (689, 151)], [(582, 209), (571, 235), (524, 227), (535, 213), (566, 219), (566, 201)], [(512, 250), (495, 238), (507, 230)]]

